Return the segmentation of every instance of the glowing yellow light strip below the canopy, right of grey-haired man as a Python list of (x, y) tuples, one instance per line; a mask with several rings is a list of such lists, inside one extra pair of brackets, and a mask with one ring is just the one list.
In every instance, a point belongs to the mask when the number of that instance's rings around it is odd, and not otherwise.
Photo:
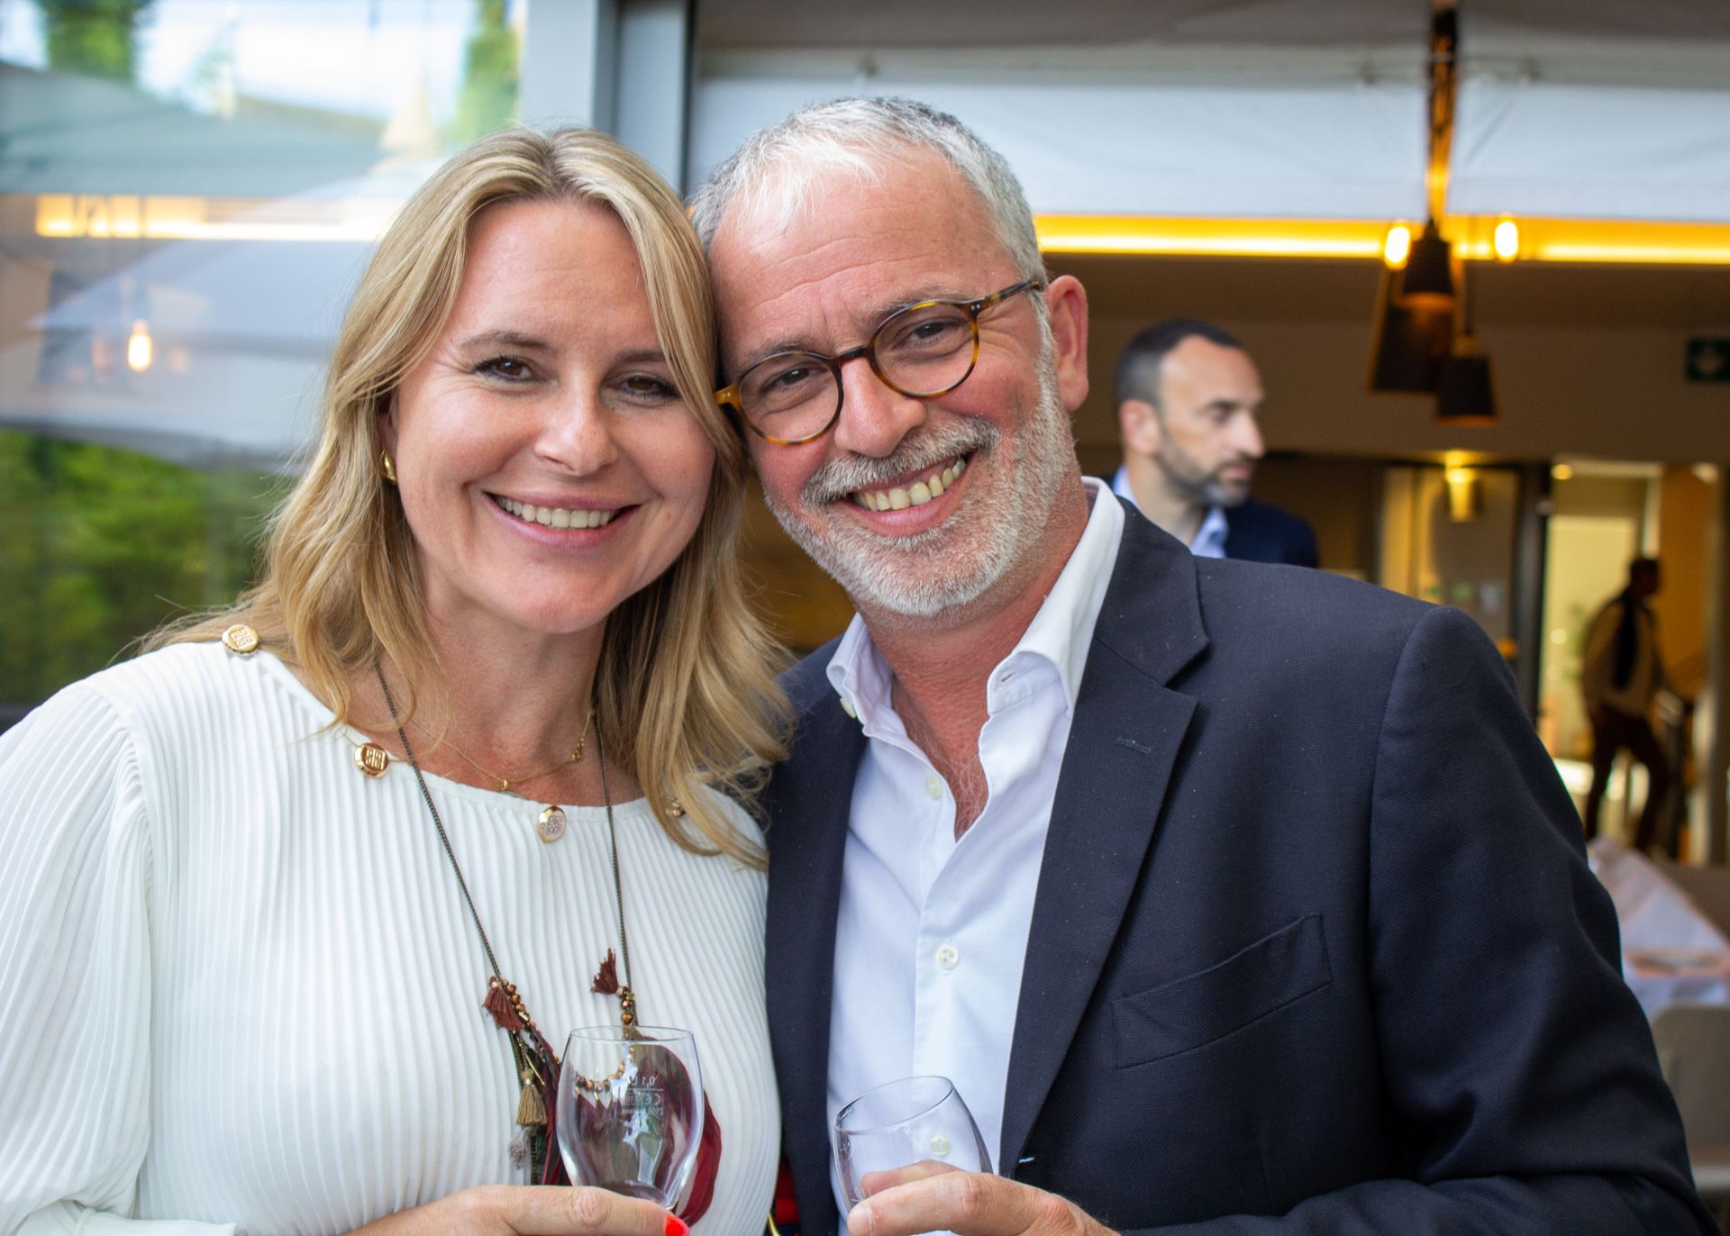
[[(1495, 218), (1450, 216), (1441, 232), (1469, 261), (1496, 261)], [(1040, 214), (1045, 252), (1221, 258), (1381, 258), (1387, 228), (1410, 220), (1176, 220)], [(1730, 264), (1730, 226), (1521, 218), (1515, 261)]]

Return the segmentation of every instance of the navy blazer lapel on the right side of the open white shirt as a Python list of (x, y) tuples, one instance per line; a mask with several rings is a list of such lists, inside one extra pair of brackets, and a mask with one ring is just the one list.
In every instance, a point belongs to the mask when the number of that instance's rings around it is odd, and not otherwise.
[(1164, 683), (1208, 647), (1189, 550), (1133, 507), (1124, 515), (1033, 902), (1003, 1098), (1003, 1175), (1016, 1174), (1142, 878), (1195, 709)]

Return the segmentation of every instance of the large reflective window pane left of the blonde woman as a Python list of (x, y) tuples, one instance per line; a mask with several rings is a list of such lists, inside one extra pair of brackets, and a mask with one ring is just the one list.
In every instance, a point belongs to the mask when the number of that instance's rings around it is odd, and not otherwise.
[(522, 0), (0, 0), (0, 724), (251, 577), (405, 197)]

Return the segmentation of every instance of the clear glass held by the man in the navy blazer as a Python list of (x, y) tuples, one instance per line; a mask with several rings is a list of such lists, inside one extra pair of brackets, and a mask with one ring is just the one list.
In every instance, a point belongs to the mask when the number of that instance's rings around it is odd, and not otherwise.
[(972, 1112), (948, 1077), (903, 1077), (865, 1091), (836, 1115), (836, 1175), (848, 1210), (865, 1196), (870, 1172), (912, 1163), (946, 1163), (962, 1172), (990, 1172)]

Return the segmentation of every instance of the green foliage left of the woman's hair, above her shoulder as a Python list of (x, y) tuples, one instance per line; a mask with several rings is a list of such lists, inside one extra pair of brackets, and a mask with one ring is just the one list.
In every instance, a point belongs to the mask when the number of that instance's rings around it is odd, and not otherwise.
[(0, 704), (36, 704), (253, 581), (282, 479), (0, 432)]

